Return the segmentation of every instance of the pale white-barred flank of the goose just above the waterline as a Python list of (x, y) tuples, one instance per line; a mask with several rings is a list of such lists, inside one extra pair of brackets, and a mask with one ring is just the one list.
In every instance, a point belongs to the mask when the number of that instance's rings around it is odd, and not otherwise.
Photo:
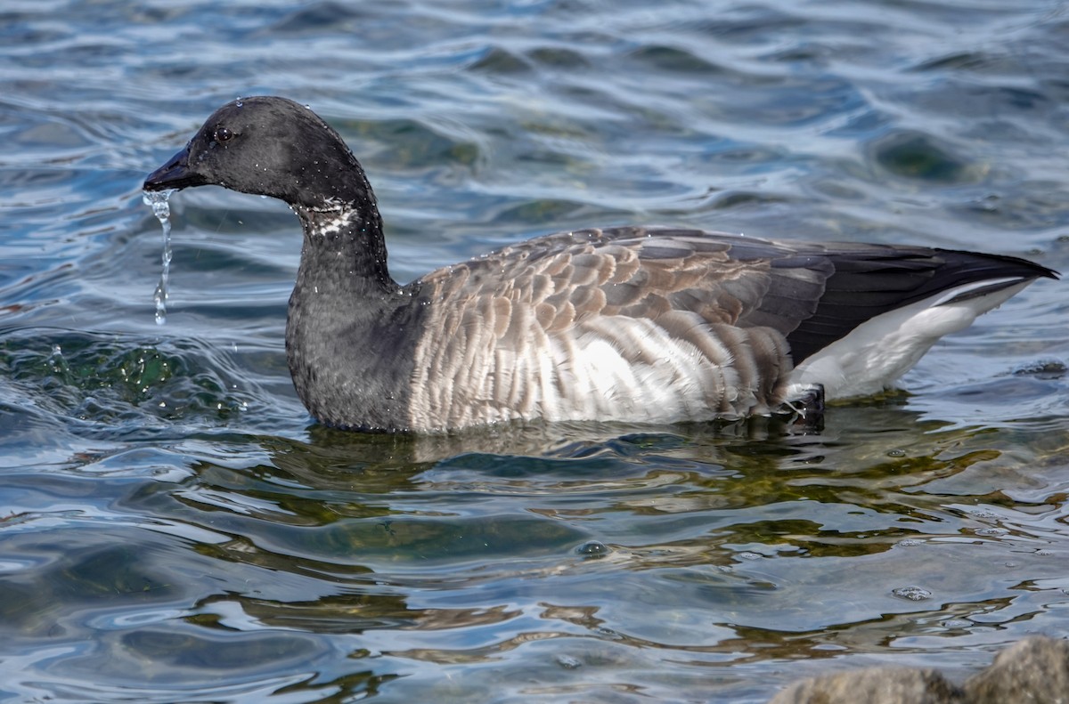
[[(738, 331), (729, 345), (696, 313), (680, 314), (693, 315), (704, 328), (704, 351), (649, 318), (622, 315), (594, 317), (553, 334), (526, 316), (527, 333), (512, 341), (516, 348), (494, 347), (485, 326), (445, 345), (424, 340), (416, 353), (413, 426), (443, 429), (531, 418), (672, 423), (766, 412), (763, 406), (755, 409), (757, 389), (740, 388), (731, 364), (753, 354), (747, 333)], [(471, 354), (479, 349), (490, 354)]]

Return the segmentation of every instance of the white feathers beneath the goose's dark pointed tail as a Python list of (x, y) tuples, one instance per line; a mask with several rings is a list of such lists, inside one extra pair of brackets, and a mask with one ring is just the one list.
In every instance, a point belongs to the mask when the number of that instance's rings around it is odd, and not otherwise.
[(981, 313), (996, 308), (1031, 282), (946, 303), (972, 290), (997, 281), (981, 281), (945, 291), (863, 323), (850, 334), (799, 364), (791, 374), (788, 400), (823, 385), (824, 397), (867, 396), (889, 388), (945, 334), (962, 330)]

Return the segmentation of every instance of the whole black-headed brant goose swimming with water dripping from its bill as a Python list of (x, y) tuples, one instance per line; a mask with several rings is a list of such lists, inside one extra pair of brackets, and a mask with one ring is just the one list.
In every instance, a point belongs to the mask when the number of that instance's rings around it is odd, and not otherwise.
[(940, 337), (1057, 277), (927, 247), (606, 228), (402, 286), (363, 169), (329, 125), (280, 97), (222, 106), (144, 182), (204, 185), (281, 199), (300, 218), (290, 372), (312, 416), (343, 428), (670, 423), (872, 394)]

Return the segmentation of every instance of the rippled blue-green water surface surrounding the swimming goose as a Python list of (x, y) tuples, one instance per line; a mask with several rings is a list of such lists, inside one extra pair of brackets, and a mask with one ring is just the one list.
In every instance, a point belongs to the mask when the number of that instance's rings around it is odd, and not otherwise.
[(819, 435), (374, 437), (282, 348), (295, 217), (144, 175), (312, 106), (394, 276), (558, 229), (910, 241), (1069, 270), (1053, 0), (0, 7), (0, 699), (763, 702), (1069, 630), (1069, 332), (1042, 281)]

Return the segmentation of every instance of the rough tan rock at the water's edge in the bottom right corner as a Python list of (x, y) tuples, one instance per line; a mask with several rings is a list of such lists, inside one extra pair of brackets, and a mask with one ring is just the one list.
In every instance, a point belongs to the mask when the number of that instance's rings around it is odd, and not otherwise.
[(935, 670), (869, 668), (811, 677), (769, 704), (1004, 704), (1069, 702), (1069, 642), (1026, 638), (961, 686)]

